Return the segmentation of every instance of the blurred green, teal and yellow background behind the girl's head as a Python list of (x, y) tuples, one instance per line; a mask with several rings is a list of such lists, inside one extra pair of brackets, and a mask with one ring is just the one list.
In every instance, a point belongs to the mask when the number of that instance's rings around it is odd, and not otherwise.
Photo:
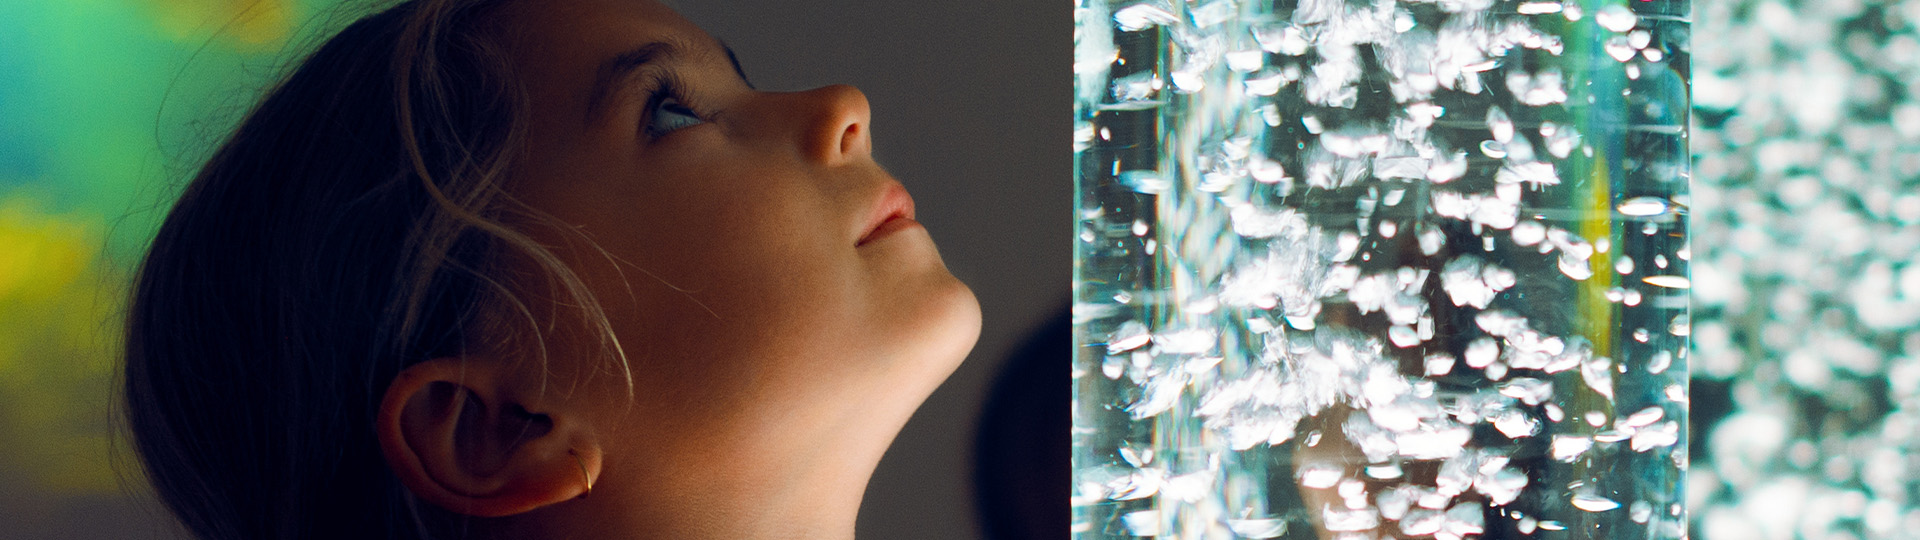
[(113, 421), (127, 277), (334, 4), (0, 2), (0, 536), (132, 515), (88, 515), (144, 490)]

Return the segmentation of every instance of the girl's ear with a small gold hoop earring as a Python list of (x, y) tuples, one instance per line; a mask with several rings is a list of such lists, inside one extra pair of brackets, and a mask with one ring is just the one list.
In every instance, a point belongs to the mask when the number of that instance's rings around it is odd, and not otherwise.
[(515, 375), (503, 361), (436, 357), (394, 377), (374, 432), (401, 484), (476, 517), (584, 498), (601, 465), (588, 425), (530, 402)]

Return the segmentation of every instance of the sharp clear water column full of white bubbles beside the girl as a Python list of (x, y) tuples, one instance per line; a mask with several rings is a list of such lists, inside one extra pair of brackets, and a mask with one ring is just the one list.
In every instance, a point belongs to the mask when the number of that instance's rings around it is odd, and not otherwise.
[(1075, 538), (1682, 538), (1686, 0), (1077, 0)]

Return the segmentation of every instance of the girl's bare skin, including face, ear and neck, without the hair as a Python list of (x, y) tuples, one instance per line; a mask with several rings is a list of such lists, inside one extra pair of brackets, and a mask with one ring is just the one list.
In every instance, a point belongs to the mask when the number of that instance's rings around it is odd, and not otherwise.
[[(881, 452), (979, 334), (925, 229), (860, 244), (897, 184), (866, 96), (756, 90), (651, 0), (516, 2), (495, 21), (530, 106), (513, 192), (570, 227), (532, 234), (605, 302), (634, 386), (564, 331), (547, 369), (430, 361), (396, 388), (461, 384), (551, 425), (467, 444), (459, 407), (409, 394), (403, 444), (384, 444), (426, 457), (396, 473), (511, 538), (852, 538)], [(601, 63), (647, 44), (668, 52), (588, 113)], [(657, 98), (668, 75), (680, 94)]]

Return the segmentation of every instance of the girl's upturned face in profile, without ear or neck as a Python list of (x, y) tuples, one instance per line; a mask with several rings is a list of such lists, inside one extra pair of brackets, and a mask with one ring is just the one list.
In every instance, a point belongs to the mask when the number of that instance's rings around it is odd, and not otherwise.
[(651, 0), (501, 15), (530, 96), (513, 192), (605, 248), (532, 231), (605, 304), (641, 430), (728, 430), (760, 409), (806, 430), (895, 402), (904, 423), (973, 346), (979, 306), (927, 231), (868, 238), (910, 200), (870, 154), (858, 90), (755, 90)]

